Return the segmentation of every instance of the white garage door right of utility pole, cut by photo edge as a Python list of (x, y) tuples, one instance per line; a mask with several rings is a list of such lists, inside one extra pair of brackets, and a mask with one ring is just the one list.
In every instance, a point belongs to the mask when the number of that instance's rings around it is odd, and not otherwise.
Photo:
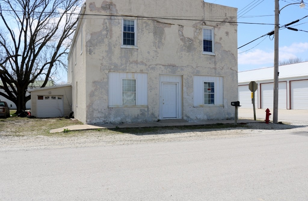
[(291, 109), (308, 110), (308, 80), (291, 81)]

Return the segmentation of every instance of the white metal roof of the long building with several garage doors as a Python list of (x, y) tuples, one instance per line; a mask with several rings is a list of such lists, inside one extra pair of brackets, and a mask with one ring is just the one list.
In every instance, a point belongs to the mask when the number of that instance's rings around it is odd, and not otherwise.
[[(308, 76), (308, 62), (279, 66), (279, 79)], [(238, 72), (238, 82), (274, 79), (274, 67)]]

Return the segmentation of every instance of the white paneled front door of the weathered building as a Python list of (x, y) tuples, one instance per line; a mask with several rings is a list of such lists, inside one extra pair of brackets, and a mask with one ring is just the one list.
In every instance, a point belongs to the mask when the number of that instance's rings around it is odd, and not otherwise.
[(177, 118), (176, 83), (163, 83), (163, 118)]

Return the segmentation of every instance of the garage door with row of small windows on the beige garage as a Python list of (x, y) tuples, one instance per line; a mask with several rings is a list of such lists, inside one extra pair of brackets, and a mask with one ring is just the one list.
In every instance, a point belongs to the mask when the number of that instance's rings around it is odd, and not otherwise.
[(37, 117), (62, 117), (63, 96), (37, 96)]

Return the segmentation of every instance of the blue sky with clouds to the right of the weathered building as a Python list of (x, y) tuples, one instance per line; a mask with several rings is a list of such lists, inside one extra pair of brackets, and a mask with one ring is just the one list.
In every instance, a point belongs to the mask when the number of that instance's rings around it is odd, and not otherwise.
[[(274, 0), (205, 0), (205, 2), (238, 8), (238, 22), (274, 24)], [(290, 3), (296, 2), (299, 3), (301, 1), (280, 0), (279, 6), (281, 9)], [(290, 5), (283, 8), (279, 16), (280, 26), (307, 16), (308, 1), (305, 0), (304, 3), (306, 4), (304, 9), (300, 9), (299, 4)], [(251, 7), (248, 8), (248, 5)], [(308, 17), (290, 26), (298, 30), (308, 31)], [(259, 38), (272, 30), (274, 30), (274, 25), (239, 23), (237, 35), (238, 47)], [(308, 60), (308, 32), (304, 31), (293, 31), (282, 28), (279, 30), (279, 60), (285, 60), (291, 57), (302, 58), (303, 61)], [(238, 53), (238, 71), (272, 67), (274, 65), (273, 36), (270, 38), (269, 36), (260, 38), (255, 42), (238, 49)]]

